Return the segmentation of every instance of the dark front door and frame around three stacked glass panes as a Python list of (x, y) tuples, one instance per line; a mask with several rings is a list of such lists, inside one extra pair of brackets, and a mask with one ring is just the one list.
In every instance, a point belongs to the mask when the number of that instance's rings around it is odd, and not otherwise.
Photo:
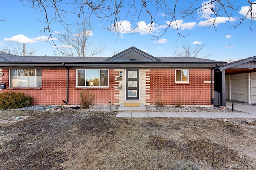
[[(128, 71), (136, 71), (137, 72), (137, 77), (135, 78), (129, 78), (128, 77)], [(136, 87), (128, 87), (129, 83), (128, 81), (137, 81)], [(136, 70), (136, 69), (126, 69), (126, 90), (125, 90), (125, 96), (126, 96), (126, 100), (139, 100), (140, 99), (140, 70)], [(136, 96), (128, 96), (129, 91), (137, 91)], [(132, 94), (132, 93), (130, 93)]]

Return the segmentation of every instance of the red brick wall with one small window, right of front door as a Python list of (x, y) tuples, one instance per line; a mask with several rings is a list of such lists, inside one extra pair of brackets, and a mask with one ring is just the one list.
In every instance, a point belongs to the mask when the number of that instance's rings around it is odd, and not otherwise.
[(162, 93), (164, 105), (211, 104), (210, 69), (189, 69), (189, 83), (175, 83), (175, 70), (150, 71), (150, 104), (159, 102), (158, 91)]

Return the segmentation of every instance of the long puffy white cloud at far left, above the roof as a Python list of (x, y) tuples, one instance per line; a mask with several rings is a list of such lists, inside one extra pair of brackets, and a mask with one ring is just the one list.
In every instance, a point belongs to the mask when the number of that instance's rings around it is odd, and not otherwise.
[[(52, 39), (57, 40), (56, 37), (54, 37)], [(24, 36), (23, 34), (12, 36), (11, 38), (7, 38), (7, 37), (4, 38), (4, 41), (7, 41), (7, 42), (17, 42), (17, 43), (27, 43), (27, 44), (32, 44), (32, 43), (37, 43), (37, 42), (44, 42), (46, 40), (48, 40), (48, 37), (46, 37), (46, 36), (28, 38), (27, 36)]]

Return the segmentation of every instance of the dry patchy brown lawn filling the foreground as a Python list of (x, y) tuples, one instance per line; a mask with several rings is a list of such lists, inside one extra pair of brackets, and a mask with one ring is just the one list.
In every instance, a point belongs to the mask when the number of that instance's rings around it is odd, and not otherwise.
[(0, 124), (1, 170), (256, 168), (256, 131), (243, 121), (0, 111), (18, 116), (29, 117)]

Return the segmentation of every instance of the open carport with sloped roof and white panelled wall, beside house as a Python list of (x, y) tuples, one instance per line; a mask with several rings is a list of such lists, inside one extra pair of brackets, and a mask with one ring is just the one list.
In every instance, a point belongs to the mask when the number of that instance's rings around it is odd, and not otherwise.
[[(216, 67), (214, 99), (226, 106), (226, 99), (256, 104), (256, 56)], [(219, 95), (219, 96), (218, 96)]]

